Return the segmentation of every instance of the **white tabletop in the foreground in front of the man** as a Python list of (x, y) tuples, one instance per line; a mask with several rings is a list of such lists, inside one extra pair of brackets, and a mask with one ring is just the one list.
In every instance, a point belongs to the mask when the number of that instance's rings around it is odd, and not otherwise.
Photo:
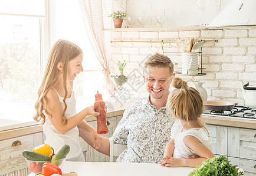
[(61, 167), (64, 174), (76, 172), (78, 176), (169, 176), (169, 175), (188, 175), (195, 168), (189, 167), (163, 167), (159, 164), (149, 163), (110, 163), (110, 162), (71, 162), (65, 161)]

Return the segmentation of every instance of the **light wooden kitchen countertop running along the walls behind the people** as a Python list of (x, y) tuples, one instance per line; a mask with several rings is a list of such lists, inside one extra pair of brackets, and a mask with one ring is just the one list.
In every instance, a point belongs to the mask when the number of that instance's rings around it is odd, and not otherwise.
[[(111, 103), (111, 107), (108, 107), (107, 117), (120, 116), (123, 114), (126, 107), (135, 101), (136, 99), (130, 100), (126, 103)], [(110, 108), (109, 108), (110, 107)], [(113, 108), (114, 107), (114, 108)], [(96, 120), (93, 116), (87, 116), (86, 121), (94, 121)], [(206, 124), (213, 124), (218, 126), (229, 126), (229, 127), (240, 127), (240, 128), (250, 128), (256, 130), (256, 119), (244, 119), (238, 117), (216, 117), (216, 116), (201, 116), (201, 120)], [(39, 133), (42, 131), (42, 126), (40, 124), (14, 128), (11, 130), (1, 130), (0, 128), (0, 141), (6, 140), (9, 138), (25, 136), (28, 134)]]

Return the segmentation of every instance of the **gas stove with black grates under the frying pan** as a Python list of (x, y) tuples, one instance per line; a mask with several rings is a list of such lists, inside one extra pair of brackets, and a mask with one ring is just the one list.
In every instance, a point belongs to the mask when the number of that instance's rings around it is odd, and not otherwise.
[(245, 119), (254, 119), (256, 120), (256, 109), (246, 106), (234, 105), (231, 111), (211, 111), (204, 110), (202, 114), (204, 116), (228, 116), (228, 117), (241, 117)]

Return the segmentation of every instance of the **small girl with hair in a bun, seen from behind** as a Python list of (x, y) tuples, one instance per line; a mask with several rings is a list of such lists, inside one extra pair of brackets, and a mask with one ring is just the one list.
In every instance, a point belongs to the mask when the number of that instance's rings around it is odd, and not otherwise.
[[(172, 86), (175, 89), (169, 94), (166, 108), (176, 117), (176, 121), (159, 164), (166, 167), (195, 167), (207, 158), (214, 157), (208, 131), (199, 119), (203, 113), (202, 97), (179, 77), (172, 80)], [(190, 158), (191, 155), (198, 157)]]

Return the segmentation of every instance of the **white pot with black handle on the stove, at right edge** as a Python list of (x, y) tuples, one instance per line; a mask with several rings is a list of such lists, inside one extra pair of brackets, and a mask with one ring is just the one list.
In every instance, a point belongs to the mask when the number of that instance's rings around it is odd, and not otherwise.
[(249, 83), (246, 83), (242, 88), (245, 106), (256, 109), (256, 87), (249, 87)]

